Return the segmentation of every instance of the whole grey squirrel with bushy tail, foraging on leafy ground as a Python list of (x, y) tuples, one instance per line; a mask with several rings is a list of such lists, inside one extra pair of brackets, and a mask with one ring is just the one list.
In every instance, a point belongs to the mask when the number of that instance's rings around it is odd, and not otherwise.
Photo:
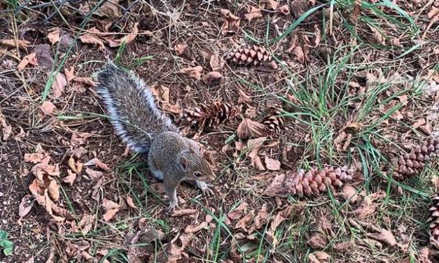
[(214, 192), (207, 180), (215, 176), (197, 142), (186, 138), (155, 105), (144, 80), (113, 62), (97, 74), (97, 94), (102, 97), (116, 135), (134, 152), (148, 155), (148, 169), (162, 180), (169, 197), (166, 213), (179, 204), (176, 189), (182, 181), (195, 183), (203, 194)]

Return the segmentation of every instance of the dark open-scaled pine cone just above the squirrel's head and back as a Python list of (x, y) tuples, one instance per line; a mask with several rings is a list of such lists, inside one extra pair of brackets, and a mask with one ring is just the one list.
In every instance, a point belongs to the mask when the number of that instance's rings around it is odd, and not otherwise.
[(185, 109), (181, 112), (178, 125), (194, 125), (199, 132), (206, 127), (214, 128), (232, 120), (241, 112), (241, 106), (233, 106), (222, 101), (215, 101), (209, 106), (201, 105), (193, 109)]

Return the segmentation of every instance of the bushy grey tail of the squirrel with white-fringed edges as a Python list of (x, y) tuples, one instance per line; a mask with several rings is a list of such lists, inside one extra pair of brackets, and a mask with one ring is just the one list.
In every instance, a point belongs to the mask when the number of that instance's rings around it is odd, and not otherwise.
[(163, 131), (178, 132), (172, 120), (158, 110), (144, 81), (113, 62), (98, 74), (97, 92), (116, 134), (136, 152), (148, 152), (153, 138)]

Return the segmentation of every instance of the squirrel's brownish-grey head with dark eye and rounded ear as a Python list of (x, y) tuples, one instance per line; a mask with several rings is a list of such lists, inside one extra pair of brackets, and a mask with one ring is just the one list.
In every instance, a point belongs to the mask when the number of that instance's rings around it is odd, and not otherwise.
[(193, 150), (183, 152), (178, 159), (181, 171), (186, 174), (188, 180), (214, 180), (212, 168), (200, 153)]

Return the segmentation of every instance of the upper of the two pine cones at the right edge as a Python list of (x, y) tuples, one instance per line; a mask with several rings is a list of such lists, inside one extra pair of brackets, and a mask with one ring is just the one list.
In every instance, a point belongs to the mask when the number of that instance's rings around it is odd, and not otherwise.
[(401, 152), (392, 160), (393, 178), (404, 180), (419, 174), (430, 159), (439, 155), (439, 141), (431, 140), (412, 148), (410, 153)]

